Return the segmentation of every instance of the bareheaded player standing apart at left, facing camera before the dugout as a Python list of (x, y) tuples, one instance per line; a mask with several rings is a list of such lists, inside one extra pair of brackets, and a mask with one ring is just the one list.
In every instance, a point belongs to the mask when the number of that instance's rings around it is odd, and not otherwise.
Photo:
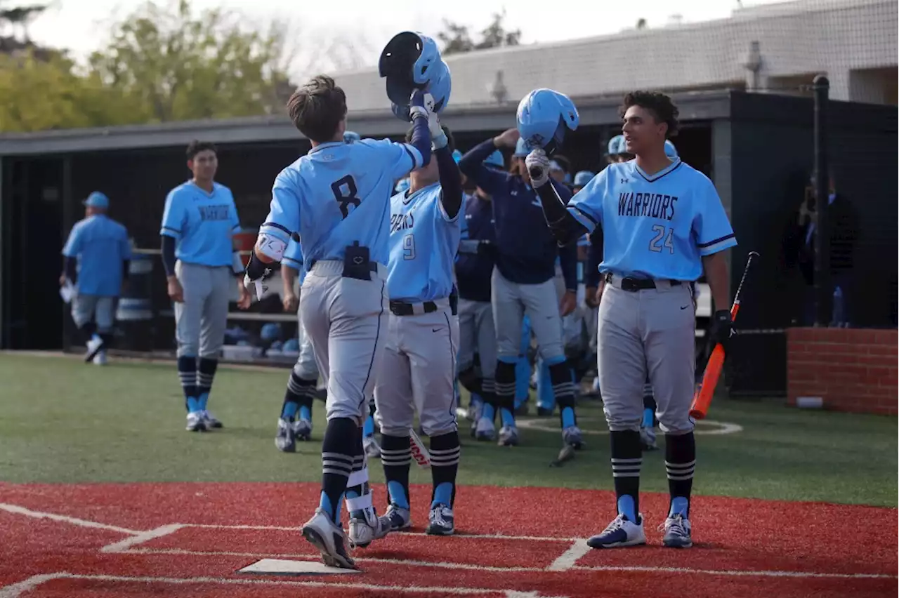
[(178, 377), (191, 432), (222, 427), (206, 406), (225, 342), (231, 284), (238, 278), (237, 306), (250, 306), (241, 278), (244, 262), (232, 235), (240, 220), (231, 189), (215, 182), (216, 146), (192, 141), (187, 167), (193, 178), (165, 198), (162, 256), (168, 295), (174, 301), (178, 340)]

